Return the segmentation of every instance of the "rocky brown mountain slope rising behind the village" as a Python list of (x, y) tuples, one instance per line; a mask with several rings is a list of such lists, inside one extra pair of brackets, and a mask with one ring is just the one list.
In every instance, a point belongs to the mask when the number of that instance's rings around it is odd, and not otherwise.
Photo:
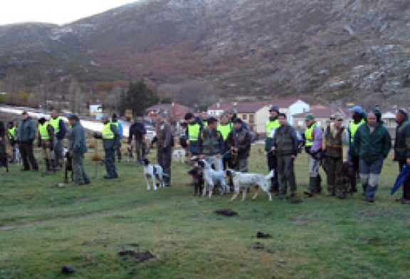
[(0, 77), (10, 68), (144, 77), (171, 95), (400, 102), (410, 94), (410, 2), (147, 0), (65, 26), (0, 26)]

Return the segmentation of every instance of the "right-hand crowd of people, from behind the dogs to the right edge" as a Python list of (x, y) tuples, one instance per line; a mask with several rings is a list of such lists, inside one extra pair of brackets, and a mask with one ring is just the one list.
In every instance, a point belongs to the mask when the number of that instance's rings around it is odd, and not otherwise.
[[(308, 156), (309, 186), (303, 193), (315, 196), (322, 192), (320, 166), (327, 176), (327, 196), (346, 199), (348, 193), (357, 193), (357, 177), (363, 189), (363, 200), (374, 202), (379, 186), (384, 159), (391, 150), (391, 137), (384, 127), (379, 110), (365, 112), (356, 105), (349, 109), (352, 119), (345, 127), (342, 114), (330, 116), (330, 123), (322, 129), (315, 115), (305, 117), (303, 138), (292, 127), (277, 106), (270, 107), (266, 122), (265, 151), (271, 180), (271, 191), (280, 197), (296, 196), (295, 160), (302, 147)], [(210, 117), (206, 124), (199, 117), (187, 113), (186, 144), (194, 156), (206, 158), (214, 168), (248, 171), (251, 135), (244, 122), (224, 113), (218, 120)], [(410, 164), (410, 123), (406, 110), (396, 113), (394, 160), (401, 169)], [(345, 166), (346, 168), (344, 168)], [(346, 173), (344, 173), (346, 172)], [(348, 173), (348, 174), (347, 174)], [(346, 181), (348, 177), (348, 181)], [(403, 196), (398, 201), (410, 201), (410, 179), (404, 183)]]

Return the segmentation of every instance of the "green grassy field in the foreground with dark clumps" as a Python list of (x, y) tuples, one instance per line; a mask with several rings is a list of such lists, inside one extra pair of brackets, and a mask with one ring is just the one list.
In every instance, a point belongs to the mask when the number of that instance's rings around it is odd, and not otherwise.
[[(266, 173), (260, 148), (251, 171)], [(64, 278), (63, 265), (75, 268), (71, 278), (409, 278), (410, 207), (389, 196), (396, 163), (386, 161), (368, 204), (360, 193), (305, 198), (306, 162), (297, 161), (300, 204), (263, 193), (245, 202), (192, 196), (184, 164), (173, 164), (172, 187), (158, 191), (147, 191), (142, 167), (126, 162), (120, 179), (105, 181), (98, 167), (84, 187), (57, 187), (63, 173), (0, 169), (0, 278)], [(214, 214), (224, 208), (238, 215)], [(117, 255), (127, 250), (155, 258)]]

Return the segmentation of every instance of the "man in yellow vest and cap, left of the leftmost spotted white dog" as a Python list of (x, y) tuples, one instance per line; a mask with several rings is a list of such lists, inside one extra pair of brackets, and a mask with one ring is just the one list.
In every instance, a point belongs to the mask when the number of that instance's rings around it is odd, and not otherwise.
[(105, 179), (118, 178), (117, 167), (115, 167), (115, 150), (120, 147), (120, 133), (117, 126), (110, 122), (107, 115), (102, 115), (102, 132), (94, 133), (96, 139), (102, 139), (102, 146), (105, 151)]

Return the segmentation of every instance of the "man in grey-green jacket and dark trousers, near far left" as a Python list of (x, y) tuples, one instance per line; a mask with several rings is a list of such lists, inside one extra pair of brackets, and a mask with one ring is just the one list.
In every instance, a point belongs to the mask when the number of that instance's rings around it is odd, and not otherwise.
[(22, 171), (29, 171), (30, 162), (33, 171), (38, 172), (38, 164), (34, 157), (33, 142), (36, 137), (36, 124), (28, 116), (28, 113), (24, 111), (21, 115), (21, 121), (19, 123), (19, 149), (21, 153), (21, 159), (23, 159)]

